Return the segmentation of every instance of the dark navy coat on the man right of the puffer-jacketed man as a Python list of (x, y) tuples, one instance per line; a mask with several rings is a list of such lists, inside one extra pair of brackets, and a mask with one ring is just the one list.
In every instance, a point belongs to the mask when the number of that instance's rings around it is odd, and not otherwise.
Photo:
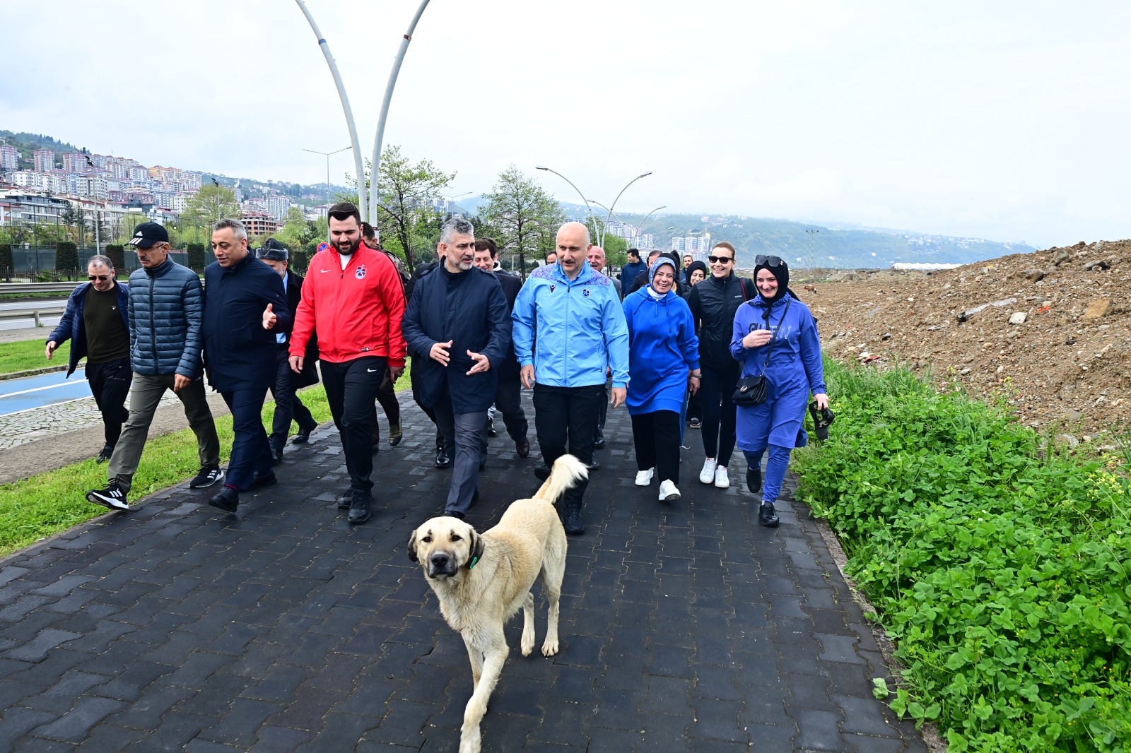
[[(271, 304), (275, 329), (264, 329)], [(275, 383), (277, 332), (292, 326), (283, 279), (249, 253), (227, 269), (205, 268), (205, 360), (208, 382), (224, 391), (268, 388)]]

